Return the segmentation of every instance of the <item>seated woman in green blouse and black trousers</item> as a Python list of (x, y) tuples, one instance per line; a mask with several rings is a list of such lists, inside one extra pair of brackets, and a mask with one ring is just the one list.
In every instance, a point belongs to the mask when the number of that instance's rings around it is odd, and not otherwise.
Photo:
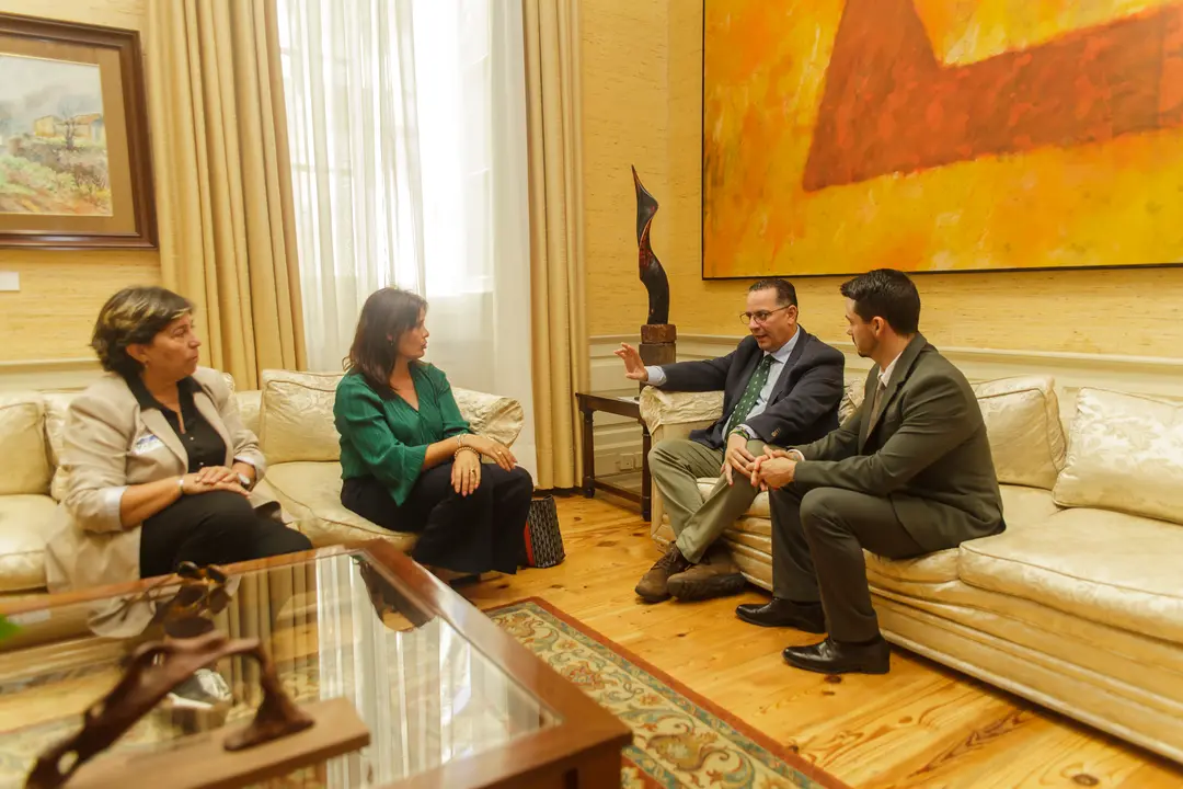
[(420, 532), (412, 556), (422, 564), (516, 573), (534, 480), (508, 447), (470, 432), (447, 377), (420, 361), (426, 316), (424, 298), (396, 287), (366, 299), (332, 408), (341, 503)]

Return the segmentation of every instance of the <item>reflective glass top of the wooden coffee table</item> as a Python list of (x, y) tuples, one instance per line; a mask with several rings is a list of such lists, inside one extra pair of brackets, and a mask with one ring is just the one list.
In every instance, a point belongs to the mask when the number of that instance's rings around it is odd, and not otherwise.
[[(260, 639), (297, 704), (343, 697), (370, 732), (367, 748), (264, 785), (389, 784), (561, 723), (362, 554), (233, 575), (225, 590), (225, 606), (211, 616), (215, 629)], [(21, 632), (0, 642), (0, 787), (24, 785), (37, 756), (80, 727), (82, 712), (110, 691), (138, 645), (161, 639), (166, 627), (177, 632), (160, 621), (176, 591), (11, 617)], [(258, 665), (240, 657), (177, 690), (112, 750), (182, 746), (247, 723), (261, 699)]]

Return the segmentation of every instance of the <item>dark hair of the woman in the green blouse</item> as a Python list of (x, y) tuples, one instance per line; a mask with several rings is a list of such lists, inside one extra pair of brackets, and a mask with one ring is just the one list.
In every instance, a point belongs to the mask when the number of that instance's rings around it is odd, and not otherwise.
[(419, 313), (426, 309), (427, 299), (411, 291), (383, 287), (370, 293), (344, 358), (345, 371), (356, 371), (381, 396), (393, 396), (390, 371), (397, 358), (399, 337), (419, 325)]

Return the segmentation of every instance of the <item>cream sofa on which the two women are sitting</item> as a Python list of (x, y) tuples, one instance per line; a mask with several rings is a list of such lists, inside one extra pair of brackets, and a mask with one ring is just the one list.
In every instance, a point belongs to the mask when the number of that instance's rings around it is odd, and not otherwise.
[[(261, 389), (234, 393), (244, 422), (267, 457), (259, 490), (278, 499), (317, 547), (381, 537), (407, 550), (414, 535), (387, 531), (341, 505), (332, 422), (340, 379), (272, 370), (264, 373)], [(517, 439), (523, 414), (516, 400), (459, 388), (453, 393), (476, 432), (505, 445)], [(58, 392), (0, 393), (0, 595), (45, 588), (45, 541), (64, 489), (57, 459), (72, 397)]]

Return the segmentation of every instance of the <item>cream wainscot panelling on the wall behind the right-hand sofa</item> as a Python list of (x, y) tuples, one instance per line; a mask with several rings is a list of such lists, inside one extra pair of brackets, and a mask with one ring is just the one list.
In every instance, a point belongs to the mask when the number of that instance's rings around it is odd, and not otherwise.
[[(743, 335), (681, 335), (678, 337), (678, 361), (723, 356), (735, 350), (741, 339)], [(625, 377), (625, 366), (613, 355), (622, 342), (635, 345), (640, 342), (640, 337), (632, 335), (590, 337), (588, 345), (594, 392), (635, 394), (636, 384)], [(846, 355), (848, 380), (860, 379), (871, 369), (872, 362), (861, 358), (851, 342), (832, 344)], [(1075, 410), (1077, 392), (1082, 387), (1183, 401), (1183, 358), (957, 347), (944, 347), (939, 350), (971, 382), (1019, 375), (1055, 377), (1060, 410), (1066, 418)], [(640, 433), (634, 429), (635, 438), (629, 439), (627, 432), (621, 429), (621, 422), (623, 420), (620, 418), (610, 418), (607, 414), (596, 416), (597, 471), (615, 468), (619, 458), (625, 453), (640, 452)]]

